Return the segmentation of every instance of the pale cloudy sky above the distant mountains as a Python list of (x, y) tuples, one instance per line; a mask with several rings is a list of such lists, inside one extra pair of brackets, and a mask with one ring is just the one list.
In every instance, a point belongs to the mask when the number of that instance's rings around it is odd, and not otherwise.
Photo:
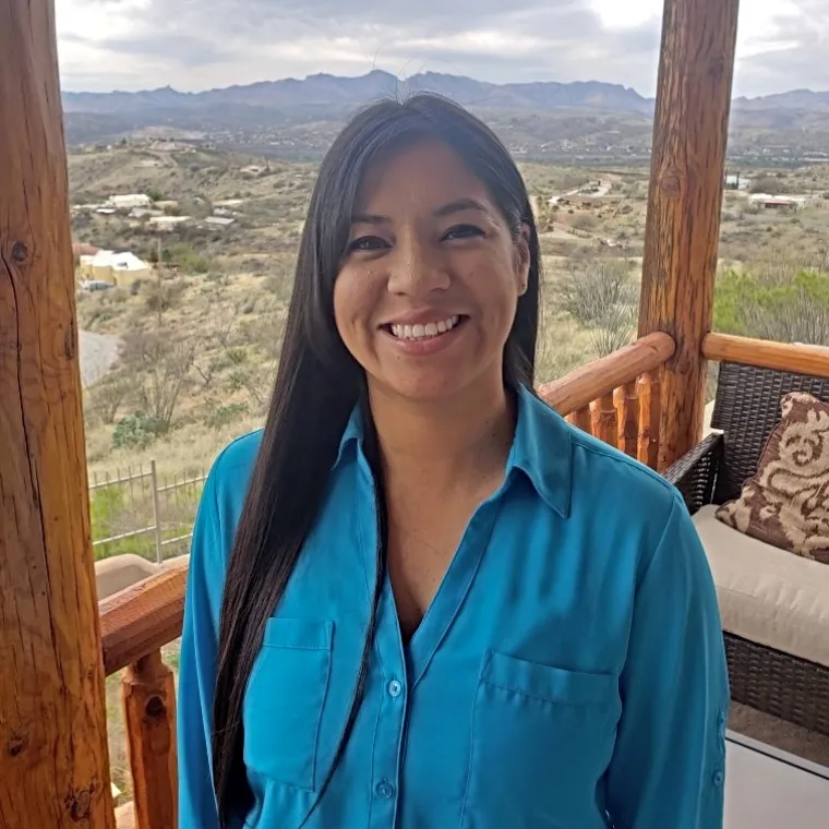
[[(652, 95), (662, 0), (56, 0), (65, 89), (199, 91), (379, 68)], [(829, 1), (743, 0), (735, 94), (829, 89)], [(301, 11), (297, 11), (297, 9)], [(417, 10), (417, 12), (412, 11)]]

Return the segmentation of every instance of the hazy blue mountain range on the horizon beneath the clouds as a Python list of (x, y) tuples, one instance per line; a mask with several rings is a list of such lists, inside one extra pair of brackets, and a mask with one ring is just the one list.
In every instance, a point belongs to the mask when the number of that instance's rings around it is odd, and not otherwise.
[[(203, 136), (218, 146), (284, 158), (319, 158), (360, 106), (420, 91), (445, 95), (481, 113), (517, 154), (551, 159), (647, 159), (654, 101), (600, 81), (492, 84), (426, 72), (404, 81), (375, 70), (263, 81), (200, 93), (167, 86), (147, 92), (63, 94), (70, 144), (124, 135)], [(730, 149), (762, 160), (766, 147), (786, 158), (829, 152), (829, 92), (795, 89), (736, 98)]]

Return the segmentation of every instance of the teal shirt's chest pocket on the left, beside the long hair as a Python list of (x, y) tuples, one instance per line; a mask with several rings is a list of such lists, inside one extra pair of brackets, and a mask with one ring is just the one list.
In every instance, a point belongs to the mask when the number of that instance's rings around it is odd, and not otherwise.
[(244, 764), (295, 789), (313, 792), (331, 672), (334, 625), (271, 618), (244, 697)]

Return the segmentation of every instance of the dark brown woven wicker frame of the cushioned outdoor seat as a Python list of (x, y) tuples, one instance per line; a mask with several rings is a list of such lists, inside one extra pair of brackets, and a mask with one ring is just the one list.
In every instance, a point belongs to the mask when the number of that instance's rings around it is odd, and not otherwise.
[[(692, 515), (740, 496), (771, 431), (780, 400), (807, 392), (829, 401), (829, 379), (737, 363), (721, 363), (711, 434), (665, 473)], [(822, 565), (821, 565), (822, 566)], [(829, 598), (827, 598), (829, 602)], [(733, 699), (829, 734), (829, 668), (725, 633)]]

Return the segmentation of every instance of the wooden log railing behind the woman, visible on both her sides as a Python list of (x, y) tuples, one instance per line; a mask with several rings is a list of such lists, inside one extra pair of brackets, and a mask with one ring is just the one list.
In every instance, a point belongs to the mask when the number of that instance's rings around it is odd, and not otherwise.
[[(656, 467), (659, 374), (674, 351), (652, 334), (539, 389), (561, 414)], [(181, 635), (187, 569), (179, 566), (100, 602), (104, 670), (127, 669), (121, 699), (135, 829), (177, 826), (176, 693), (161, 647)]]

